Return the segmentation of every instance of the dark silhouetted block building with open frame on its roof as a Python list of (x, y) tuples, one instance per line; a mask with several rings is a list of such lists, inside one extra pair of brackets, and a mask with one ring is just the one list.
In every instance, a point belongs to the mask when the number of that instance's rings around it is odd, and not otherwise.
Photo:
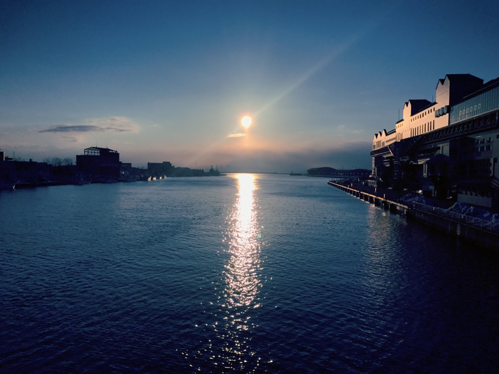
[(109, 148), (90, 147), (76, 156), (76, 166), (92, 183), (117, 182), (120, 177), (120, 154)]

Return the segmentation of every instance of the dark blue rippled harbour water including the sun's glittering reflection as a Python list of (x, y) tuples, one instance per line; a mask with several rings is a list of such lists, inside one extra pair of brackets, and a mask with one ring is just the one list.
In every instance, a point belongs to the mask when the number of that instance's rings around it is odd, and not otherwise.
[(274, 175), (0, 191), (3, 373), (497, 373), (499, 256)]

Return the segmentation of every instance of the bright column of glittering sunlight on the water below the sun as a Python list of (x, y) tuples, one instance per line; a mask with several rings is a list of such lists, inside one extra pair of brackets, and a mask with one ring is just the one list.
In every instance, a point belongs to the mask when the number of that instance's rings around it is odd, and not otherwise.
[(235, 178), (238, 198), (229, 217), (227, 251), (230, 258), (223, 272), (225, 285), (220, 297), (223, 322), (216, 324), (215, 330), (224, 342), (223, 367), (250, 372), (259, 361), (250, 347), (251, 329), (255, 327), (250, 311), (260, 306), (257, 298), (261, 286), (258, 279), (260, 235), (254, 196), (258, 187), (251, 174), (239, 174)]

